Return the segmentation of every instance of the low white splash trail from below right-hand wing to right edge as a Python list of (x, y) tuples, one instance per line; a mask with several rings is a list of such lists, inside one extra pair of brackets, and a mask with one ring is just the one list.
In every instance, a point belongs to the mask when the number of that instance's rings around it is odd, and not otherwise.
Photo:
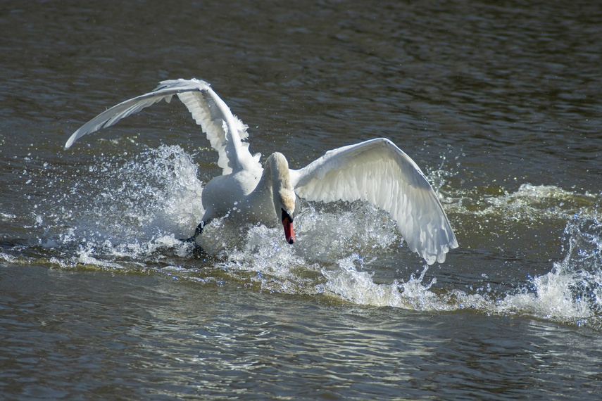
[(406, 282), (377, 284), (358, 255), (339, 260), (334, 271), (322, 269), (324, 290), (360, 305), (437, 312), (468, 308), (602, 329), (602, 222), (596, 216), (574, 215), (567, 222), (565, 242), (565, 257), (552, 263), (551, 272), (503, 293), (491, 291), (491, 284), (482, 293), (435, 288), (436, 278), (425, 279), (427, 267)]

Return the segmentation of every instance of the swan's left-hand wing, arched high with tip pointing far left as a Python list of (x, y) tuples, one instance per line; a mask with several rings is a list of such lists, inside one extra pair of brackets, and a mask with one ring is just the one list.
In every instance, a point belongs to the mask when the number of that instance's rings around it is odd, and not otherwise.
[(163, 99), (169, 103), (175, 94), (186, 105), (196, 123), (201, 125), (211, 146), (218, 151), (218, 166), (222, 167), (223, 174), (229, 174), (237, 167), (242, 168), (249, 163), (259, 165), (258, 156), (253, 158), (249, 153), (249, 144), (242, 142), (248, 136), (246, 125), (232, 115), (230, 108), (207, 82), (199, 79), (163, 81), (154, 91), (109, 108), (77, 129), (68, 139), (65, 149), (81, 136), (111, 127), (122, 118)]

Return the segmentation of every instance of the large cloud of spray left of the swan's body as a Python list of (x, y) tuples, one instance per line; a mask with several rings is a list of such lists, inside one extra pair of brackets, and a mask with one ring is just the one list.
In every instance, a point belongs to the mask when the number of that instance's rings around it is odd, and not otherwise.
[(180, 146), (103, 158), (80, 170), (73, 188), (44, 210), (42, 246), (136, 258), (164, 245), (167, 233), (189, 236), (203, 214), (203, 185)]

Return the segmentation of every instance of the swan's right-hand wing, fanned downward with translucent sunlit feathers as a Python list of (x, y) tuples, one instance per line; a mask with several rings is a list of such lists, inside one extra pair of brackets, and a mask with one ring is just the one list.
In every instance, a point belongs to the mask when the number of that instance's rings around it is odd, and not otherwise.
[(420, 167), (388, 139), (328, 151), (291, 170), (297, 195), (307, 200), (365, 200), (389, 212), (408, 248), (429, 265), (458, 247), (443, 207)]

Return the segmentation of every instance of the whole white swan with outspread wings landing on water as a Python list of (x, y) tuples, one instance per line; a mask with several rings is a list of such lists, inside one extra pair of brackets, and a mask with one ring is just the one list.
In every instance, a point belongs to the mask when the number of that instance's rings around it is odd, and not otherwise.
[[(247, 126), (200, 79), (170, 79), (153, 91), (131, 98), (97, 115), (68, 139), (65, 150), (85, 134), (110, 127), (173, 95), (188, 108), (196, 123), (218, 151), (222, 175), (209, 181), (201, 196), (205, 213), (190, 240), (218, 217), (234, 217), (237, 223), (273, 225), (282, 222), (284, 238), (294, 243), (296, 197), (333, 202), (364, 200), (389, 212), (397, 222), (408, 248), (428, 265), (445, 261), (458, 247), (437, 194), (420, 167), (389, 139), (377, 138), (327, 151), (313, 162), (294, 170), (282, 153), (272, 153), (261, 165), (261, 154), (251, 155)], [(236, 212), (233, 212), (236, 211)]]

